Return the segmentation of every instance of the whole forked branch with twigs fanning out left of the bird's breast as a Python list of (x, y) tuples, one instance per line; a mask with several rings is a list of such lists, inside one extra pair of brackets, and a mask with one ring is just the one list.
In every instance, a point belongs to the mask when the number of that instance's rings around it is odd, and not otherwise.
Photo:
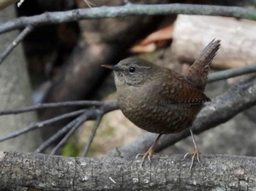
[[(118, 104), (116, 103), (116, 101), (110, 101), (110, 102), (103, 102), (103, 101), (67, 101), (67, 102), (63, 102), (63, 103), (37, 104), (35, 106), (27, 106), (27, 107), (24, 107), (24, 108), (21, 108), (21, 109), (10, 109), (10, 110), (0, 112), (0, 115), (1, 114), (18, 114), (18, 113), (23, 113), (23, 112), (31, 112), (31, 111), (34, 111), (34, 110), (37, 110), (37, 109), (58, 108), (58, 107), (63, 107), (63, 106), (90, 106), (90, 108), (80, 109), (80, 110), (75, 111), (75, 112), (69, 112), (67, 114), (62, 114), (58, 117), (53, 117), (50, 120), (44, 120), (42, 122), (32, 123), (27, 128), (23, 128), (22, 130), (15, 131), (13, 133), (10, 133), (6, 136), (1, 137), (0, 141), (5, 141), (7, 139), (15, 138), (16, 136), (20, 136), (21, 134), (27, 133), (30, 130), (34, 130), (36, 128), (42, 128), (46, 125), (52, 124), (53, 122), (56, 122), (56, 121), (59, 121), (59, 120), (64, 120), (67, 117), (75, 117), (78, 114), (80, 114), (80, 116), (77, 119), (72, 120), (72, 122), (69, 122), (69, 124), (67, 124), (66, 126), (61, 128), (61, 130), (59, 130), (57, 133), (55, 133), (53, 136), (51, 136), (48, 140), (43, 142), (41, 144), (41, 146), (36, 150), (36, 152), (42, 152), (44, 149), (49, 147), (50, 144), (53, 143), (53, 141), (56, 141), (61, 136), (63, 136), (65, 133), (69, 132), (59, 142), (59, 144), (52, 150), (51, 154), (54, 154), (60, 147), (63, 146), (63, 144), (65, 143), (65, 141), (67, 141), (69, 136), (71, 136), (72, 133), (74, 133), (75, 130), (80, 127), (81, 123), (85, 122), (86, 120), (97, 120), (98, 125), (94, 128), (94, 130), (92, 131), (92, 135), (91, 135), (91, 136), (94, 136), (95, 133), (96, 133), (97, 127), (99, 126), (99, 122), (100, 122), (100, 119), (101, 119), (102, 115), (105, 114), (105, 113), (108, 113), (108, 112), (111, 112), (113, 110), (118, 109)], [(100, 119), (99, 119), (99, 117), (100, 117)], [(91, 145), (92, 139), (93, 139), (93, 137), (90, 138), (88, 147)], [(86, 149), (87, 152), (88, 152), (88, 149), (89, 148)]]

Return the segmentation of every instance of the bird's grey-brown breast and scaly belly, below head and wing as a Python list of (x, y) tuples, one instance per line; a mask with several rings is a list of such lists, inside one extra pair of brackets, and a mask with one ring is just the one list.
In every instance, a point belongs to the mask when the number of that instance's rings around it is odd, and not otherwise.
[[(184, 108), (178, 104), (159, 104), (154, 91), (118, 88), (118, 104), (123, 114), (139, 128), (152, 133), (177, 133), (189, 128), (202, 106)], [(154, 99), (151, 99), (151, 98)]]

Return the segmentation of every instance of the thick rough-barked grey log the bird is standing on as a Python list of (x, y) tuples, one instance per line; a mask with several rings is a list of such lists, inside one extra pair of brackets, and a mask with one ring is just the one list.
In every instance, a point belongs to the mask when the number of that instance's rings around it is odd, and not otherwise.
[(134, 158), (60, 157), (0, 152), (0, 188), (41, 190), (255, 190), (256, 157), (203, 155), (189, 171), (181, 155)]

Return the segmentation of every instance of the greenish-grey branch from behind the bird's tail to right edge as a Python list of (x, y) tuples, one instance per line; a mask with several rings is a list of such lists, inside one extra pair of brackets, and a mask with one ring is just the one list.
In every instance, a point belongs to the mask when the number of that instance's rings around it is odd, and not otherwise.
[(230, 77), (238, 77), (244, 74), (251, 74), (255, 72), (256, 72), (256, 64), (241, 66), (236, 69), (227, 69), (224, 71), (217, 71), (209, 74), (208, 82), (216, 82), (218, 80), (228, 79)]

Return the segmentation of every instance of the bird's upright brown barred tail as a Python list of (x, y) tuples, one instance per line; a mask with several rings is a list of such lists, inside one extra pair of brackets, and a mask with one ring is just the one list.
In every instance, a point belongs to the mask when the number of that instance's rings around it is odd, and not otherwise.
[(208, 70), (210, 69), (211, 61), (214, 59), (219, 50), (220, 40), (213, 39), (201, 52), (197, 60), (189, 67), (186, 79), (195, 85), (199, 90), (204, 90), (206, 87)]

